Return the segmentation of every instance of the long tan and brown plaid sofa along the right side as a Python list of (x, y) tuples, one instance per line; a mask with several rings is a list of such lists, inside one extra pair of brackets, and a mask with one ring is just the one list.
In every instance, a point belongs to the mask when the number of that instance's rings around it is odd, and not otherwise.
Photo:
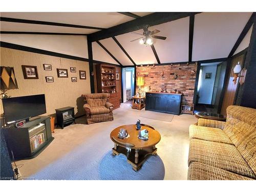
[(189, 126), (188, 180), (256, 179), (256, 110), (228, 106), (226, 122)]

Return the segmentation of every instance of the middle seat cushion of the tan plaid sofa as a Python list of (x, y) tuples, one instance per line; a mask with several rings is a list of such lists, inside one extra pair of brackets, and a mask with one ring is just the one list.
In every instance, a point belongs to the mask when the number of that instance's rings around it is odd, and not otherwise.
[(191, 139), (188, 165), (192, 162), (216, 166), (245, 177), (255, 178), (237, 148), (230, 144)]

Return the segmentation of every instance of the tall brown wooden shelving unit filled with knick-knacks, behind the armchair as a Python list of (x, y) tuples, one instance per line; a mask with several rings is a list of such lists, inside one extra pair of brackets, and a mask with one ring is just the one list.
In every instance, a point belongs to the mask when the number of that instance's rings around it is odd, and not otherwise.
[(116, 89), (116, 68), (110, 65), (96, 65), (97, 93), (109, 93), (114, 109), (120, 107), (120, 93)]

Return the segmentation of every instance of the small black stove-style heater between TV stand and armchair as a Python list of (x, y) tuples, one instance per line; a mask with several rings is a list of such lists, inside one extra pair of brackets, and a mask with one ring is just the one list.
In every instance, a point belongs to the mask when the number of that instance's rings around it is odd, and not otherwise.
[(75, 123), (75, 113), (72, 106), (56, 109), (57, 125), (63, 129), (66, 124)]

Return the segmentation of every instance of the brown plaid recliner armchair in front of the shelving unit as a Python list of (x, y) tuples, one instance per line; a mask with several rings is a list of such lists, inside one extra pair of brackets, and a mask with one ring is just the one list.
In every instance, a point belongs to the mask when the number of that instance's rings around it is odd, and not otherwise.
[(96, 123), (102, 121), (113, 121), (114, 105), (109, 102), (109, 93), (84, 94), (83, 109), (86, 111), (86, 123)]

